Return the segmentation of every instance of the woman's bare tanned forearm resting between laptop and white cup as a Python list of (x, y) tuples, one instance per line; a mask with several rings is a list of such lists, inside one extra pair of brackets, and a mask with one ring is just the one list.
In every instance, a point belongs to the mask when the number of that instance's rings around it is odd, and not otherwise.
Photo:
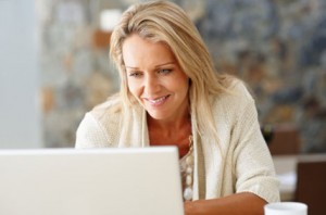
[(186, 215), (263, 215), (266, 201), (241, 192), (225, 198), (185, 202)]

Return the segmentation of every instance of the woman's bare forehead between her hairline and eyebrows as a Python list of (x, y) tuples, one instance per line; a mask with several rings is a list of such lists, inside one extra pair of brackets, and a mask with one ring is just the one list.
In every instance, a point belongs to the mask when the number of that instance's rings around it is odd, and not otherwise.
[(164, 42), (153, 42), (134, 34), (122, 47), (126, 66), (153, 65), (162, 62), (175, 62), (175, 55)]

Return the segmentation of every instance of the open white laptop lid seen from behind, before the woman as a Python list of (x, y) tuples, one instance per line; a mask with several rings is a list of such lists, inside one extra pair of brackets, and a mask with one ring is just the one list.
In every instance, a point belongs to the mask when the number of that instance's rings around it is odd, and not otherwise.
[(174, 147), (0, 150), (0, 214), (183, 215)]

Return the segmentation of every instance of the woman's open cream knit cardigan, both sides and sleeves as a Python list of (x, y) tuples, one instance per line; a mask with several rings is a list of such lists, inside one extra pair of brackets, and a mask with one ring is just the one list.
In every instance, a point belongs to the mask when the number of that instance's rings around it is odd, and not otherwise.
[[(279, 182), (260, 131), (254, 100), (240, 81), (231, 85), (229, 90), (233, 93), (211, 100), (221, 147), (206, 138), (204, 130), (201, 135), (192, 130), (192, 199), (252, 192), (267, 202), (279, 201)], [(108, 113), (114, 103), (112, 100), (106, 101), (86, 113), (77, 129), (76, 148), (150, 146), (146, 111), (140, 105), (135, 105), (130, 123), (120, 126), (121, 113)]]

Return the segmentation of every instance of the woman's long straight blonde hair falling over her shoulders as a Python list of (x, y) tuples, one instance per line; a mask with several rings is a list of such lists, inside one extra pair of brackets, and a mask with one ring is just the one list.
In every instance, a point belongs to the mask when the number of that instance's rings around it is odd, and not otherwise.
[[(192, 126), (201, 134), (217, 138), (209, 96), (227, 91), (228, 76), (217, 74), (200, 34), (187, 14), (175, 3), (149, 1), (126, 10), (111, 36), (110, 55), (121, 76), (123, 110), (129, 115), (135, 101), (127, 86), (122, 46), (126, 38), (137, 34), (152, 42), (164, 42), (175, 54), (181, 69), (190, 79), (189, 99)], [(206, 134), (209, 132), (209, 134)]]

